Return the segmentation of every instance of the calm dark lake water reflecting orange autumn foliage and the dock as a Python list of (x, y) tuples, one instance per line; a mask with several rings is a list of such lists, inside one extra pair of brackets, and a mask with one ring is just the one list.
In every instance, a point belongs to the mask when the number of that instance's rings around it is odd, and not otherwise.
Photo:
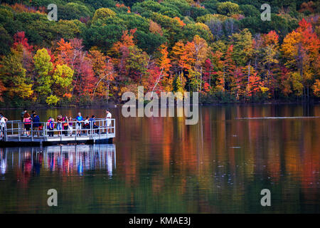
[[(1, 148), (0, 213), (320, 212), (320, 118), (238, 119), (319, 117), (319, 105), (201, 107), (198, 125), (111, 111), (113, 145)], [(38, 110), (42, 121), (77, 112)], [(58, 207), (47, 205), (51, 188)], [(260, 204), (266, 188), (271, 207)]]

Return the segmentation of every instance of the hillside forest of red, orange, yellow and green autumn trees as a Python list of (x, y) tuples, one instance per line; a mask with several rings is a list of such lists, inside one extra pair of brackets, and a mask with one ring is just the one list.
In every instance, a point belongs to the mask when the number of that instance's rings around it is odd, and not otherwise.
[[(271, 6), (262, 21), (261, 5)], [(58, 20), (48, 20), (56, 4)], [(199, 102), (316, 102), (316, 1), (1, 1), (0, 106), (122, 103), (122, 93), (199, 92)]]

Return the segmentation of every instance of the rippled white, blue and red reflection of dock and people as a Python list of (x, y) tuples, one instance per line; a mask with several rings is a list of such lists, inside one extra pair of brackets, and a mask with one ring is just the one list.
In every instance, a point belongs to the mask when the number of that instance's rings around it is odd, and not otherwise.
[(2, 174), (8, 166), (37, 175), (46, 171), (84, 175), (87, 170), (106, 170), (111, 177), (116, 150), (114, 144), (8, 147), (0, 150)]

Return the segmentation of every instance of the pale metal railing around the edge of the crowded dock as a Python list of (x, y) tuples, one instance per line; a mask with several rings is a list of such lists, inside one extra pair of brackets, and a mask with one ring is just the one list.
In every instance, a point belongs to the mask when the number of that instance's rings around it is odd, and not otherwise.
[[(68, 128), (64, 124), (68, 123)], [(49, 122), (29, 123), (30, 130), (26, 130), (26, 123), (21, 120), (8, 120), (4, 129), (1, 129), (2, 140), (8, 141), (10, 138), (30, 138), (30, 141), (35, 139), (48, 140), (50, 138), (57, 139), (69, 138), (70, 140), (81, 140), (81, 138), (100, 139), (101, 135), (115, 135), (115, 119), (97, 118), (89, 120), (89, 123), (82, 121), (63, 121), (62, 123), (54, 122), (53, 128), (50, 128)], [(38, 126), (42, 127), (39, 129)], [(58, 127), (58, 125), (60, 127)], [(80, 126), (80, 127), (79, 127)], [(28, 133), (28, 134), (27, 134)], [(106, 135), (105, 135), (106, 134)], [(105, 138), (105, 137), (104, 137)]]

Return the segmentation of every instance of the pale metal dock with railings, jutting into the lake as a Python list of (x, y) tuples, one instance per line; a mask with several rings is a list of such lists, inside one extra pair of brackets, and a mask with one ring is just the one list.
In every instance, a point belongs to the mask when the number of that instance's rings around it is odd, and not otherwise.
[[(82, 124), (82, 129), (77, 130), (78, 123), (69, 122), (72, 128), (67, 130), (57, 130), (48, 128), (48, 123), (40, 123), (42, 130), (34, 128), (35, 123), (31, 123), (30, 135), (25, 135), (24, 124), (19, 120), (12, 120), (6, 123), (4, 138), (0, 142), (1, 146), (17, 145), (54, 145), (66, 143), (112, 143), (115, 137), (115, 120), (97, 119), (94, 124), (90, 122), (86, 128)], [(37, 123), (38, 124), (38, 123)], [(55, 123), (56, 125), (57, 123)]]

